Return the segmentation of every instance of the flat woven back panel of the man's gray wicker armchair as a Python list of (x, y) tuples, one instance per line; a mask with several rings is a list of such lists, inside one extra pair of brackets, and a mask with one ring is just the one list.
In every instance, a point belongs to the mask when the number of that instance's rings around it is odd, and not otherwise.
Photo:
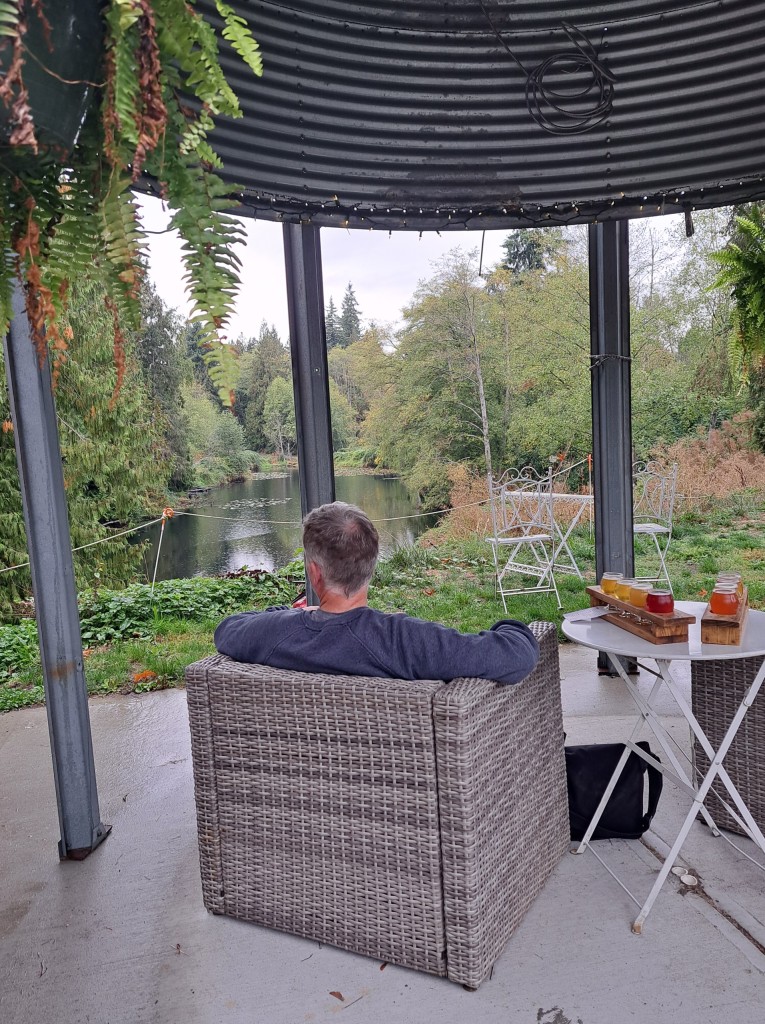
[(186, 678), (208, 909), (444, 975), (443, 683), (220, 656)]

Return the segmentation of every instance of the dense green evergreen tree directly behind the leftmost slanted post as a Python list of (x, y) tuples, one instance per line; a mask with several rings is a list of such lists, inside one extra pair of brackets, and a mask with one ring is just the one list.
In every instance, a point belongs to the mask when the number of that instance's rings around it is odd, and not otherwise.
[[(76, 339), (60, 370), (55, 393), (72, 544), (80, 547), (108, 538), (115, 528), (136, 525), (165, 504), (167, 466), (165, 441), (153, 422), (152, 401), (128, 342), (122, 389), (113, 351), (113, 322), (103, 295), (92, 283), (72, 289), (69, 325)], [(2, 360), (0, 359), (0, 365)], [(4, 370), (4, 368), (3, 368)], [(4, 379), (4, 373), (2, 374)], [(18, 474), (13, 458), (13, 432), (7, 394), (0, 394), (0, 555), (7, 564), (27, 560)], [(135, 571), (141, 548), (119, 538), (85, 548), (75, 555), (78, 584), (125, 583)], [(26, 570), (0, 575), (0, 614), (28, 593)], [(25, 595), (26, 596), (26, 595)]]

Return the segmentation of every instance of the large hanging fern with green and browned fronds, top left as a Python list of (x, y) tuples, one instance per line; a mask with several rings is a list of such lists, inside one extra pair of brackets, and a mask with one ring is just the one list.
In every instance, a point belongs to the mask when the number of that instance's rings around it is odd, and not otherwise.
[[(63, 326), (70, 283), (100, 280), (114, 322), (117, 388), (124, 337), (137, 325), (145, 234), (131, 188), (150, 180), (182, 240), (192, 318), (202, 328), (211, 377), (230, 403), (235, 353), (221, 333), (239, 285), (230, 186), (209, 135), (214, 118), (242, 116), (218, 59), (222, 37), (256, 75), (258, 46), (222, 0), (216, 30), (196, 0), (0, 0), (0, 317), (7, 324), (14, 283), (25, 286), (33, 340), (47, 347), (53, 375), (72, 340)], [(72, 18), (101, 19), (93, 67), (79, 77), (59, 59)], [(57, 71), (62, 68), (62, 71)], [(56, 96), (75, 86), (82, 117), (72, 145), (51, 133), (32, 101), (41, 79)], [(89, 77), (92, 75), (92, 78)], [(36, 76), (36, 78), (35, 78)], [(47, 78), (47, 85), (46, 85)], [(28, 82), (29, 80), (29, 82)]]

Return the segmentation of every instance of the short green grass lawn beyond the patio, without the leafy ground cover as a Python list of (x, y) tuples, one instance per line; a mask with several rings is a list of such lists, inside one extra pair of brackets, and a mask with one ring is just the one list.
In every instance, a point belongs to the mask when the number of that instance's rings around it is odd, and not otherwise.
[[(584, 588), (595, 581), (595, 564), (588, 526), (573, 532), (571, 549), (585, 581), (563, 573), (557, 577), (564, 611), (589, 604)], [(752, 607), (765, 608), (765, 516), (740, 514), (735, 509), (680, 516), (668, 564), (679, 599), (705, 600), (716, 573), (735, 569), (749, 586)], [(637, 573), (645, 575), (654, 565), (655, 556), (651, 559), (650, 548), (643, 545), (636, 551)], [(264, 599), (262, 603), (273, 601)], [(495, 595), (494, 563), (486, 542), (442, 541), (438, 530), (378, 566), (370, 603), (384, 611), (406, 611), (464, 632), (485, 629), (505, 617), (502, 602)], [(554, 595), (549, 594), (508, 598), (507, 613), (526, 623), (542, 618), (559, 625), (561, 620)], [(209, 616), (199, 621), (152, 617), (141, 636), (87, 649), (89, 692), (132, 693), (181, 685), (185, 666), (213, 652), (216, 624), (217, 617)], [(0, 675), (0, 712), (42, 699), (39, 660), (20, 669), (11, 662)]]

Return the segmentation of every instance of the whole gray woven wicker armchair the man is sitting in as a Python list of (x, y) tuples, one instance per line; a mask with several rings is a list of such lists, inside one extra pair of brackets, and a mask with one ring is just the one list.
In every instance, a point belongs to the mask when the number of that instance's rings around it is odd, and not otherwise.
[(517, 686), (186, 670), (205, 906), (477, 987), (568, 846), (555, 628)]

